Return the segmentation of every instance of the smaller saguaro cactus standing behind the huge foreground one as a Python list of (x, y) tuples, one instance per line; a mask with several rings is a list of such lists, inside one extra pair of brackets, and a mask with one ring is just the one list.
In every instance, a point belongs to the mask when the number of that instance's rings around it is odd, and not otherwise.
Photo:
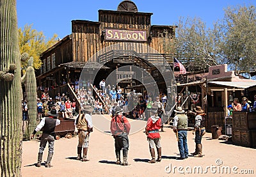
[(31, 139), (30, 135), (36, 127), (36, 75), (33, 68), (33, 57), (28, 61), (28, 68), (21, 79), (26, 88), (26, 100), (28, 101), (28, 127), (26, 129), (26, 139)]

